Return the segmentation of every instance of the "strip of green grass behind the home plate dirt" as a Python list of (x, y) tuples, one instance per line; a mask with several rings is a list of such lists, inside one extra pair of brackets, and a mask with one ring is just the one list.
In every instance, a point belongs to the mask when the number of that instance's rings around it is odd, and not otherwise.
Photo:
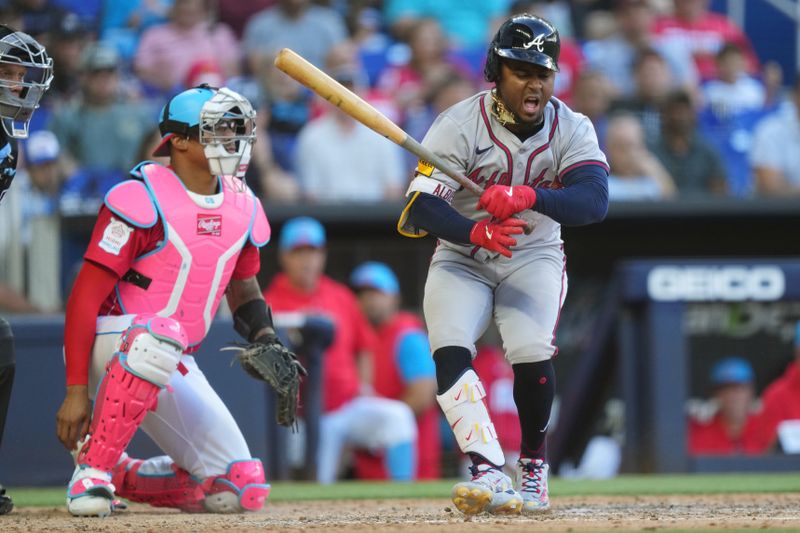
[[(347, 481), (334, 485), (272, 483), (271, 501), (447, 498), (453, 480), (420, 483)], [(554, 478), (550, 492), (559, 496), (800, 492), (800, 476), (788, 474), (630, 475), (609, 480)], [(64, 505), (66, 489), (9, 488), (17, 506)]]

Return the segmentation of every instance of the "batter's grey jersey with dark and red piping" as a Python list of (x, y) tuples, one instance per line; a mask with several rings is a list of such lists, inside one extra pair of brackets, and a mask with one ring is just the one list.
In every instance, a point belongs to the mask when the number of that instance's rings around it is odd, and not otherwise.
[[(422, 144), (483, 188), (497, 184), (559, 189), (563, 187), (561, 178), (569, 170), (585, 164), (608, 167), (592, 123), (558, 99), (547, 103), (544, 127), (525, 142), (498, 122), (491, 106), (489, 91), (457, 103), (439, 115)], [(407, 196), (418, 192), (444, 199), (471, 220), (489, 216), (475, 209), (478, 199), (472, 193), (425, 161), (417, 165)], [(407, 220), (407, 209), (398, 224), (401, 233), (424, 235)], [(533, 232), (516, 236), (514, 250), (561, 244), (560, 224), (537, 212), (533, 212), (533, 219)], [(472, 245), (447, 241), (441, 241), (441, 245), (478, 258)]]

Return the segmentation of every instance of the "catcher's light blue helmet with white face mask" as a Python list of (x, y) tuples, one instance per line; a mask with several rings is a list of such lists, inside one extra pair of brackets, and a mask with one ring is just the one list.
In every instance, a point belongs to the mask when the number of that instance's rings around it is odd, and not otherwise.
[(212, 174), (244, 178), (256, 138), (255, 116), (250, 102), (227, 87), (193, 87), (161, 110), (162, 138), (153, 155), (168, 156), (174, 135), (190, 137), (203, 145)]

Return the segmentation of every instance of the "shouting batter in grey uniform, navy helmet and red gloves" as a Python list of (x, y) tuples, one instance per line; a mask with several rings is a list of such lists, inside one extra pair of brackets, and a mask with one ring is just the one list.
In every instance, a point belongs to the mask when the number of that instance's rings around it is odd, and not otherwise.
[[(589, 120), (553, 98), (558, 31), (529, 14), (511, 17), (489, 45), (494, 88), (444, 111), (423, 144), (485, 188), (478, 201), (420, 161), (398, 222), (407, 236), (439, 245), (425, 285), (424, 313), (436, 363), (439, 405), (472, 479), (453, 488), (466, 514), (549, 507), (545, 436), (555, 394), (550, 359), (567, 292), (560, 225), (599, 222), (608, 205), (606, 159)], [(525, 212), (534, 221), (523, 235)], [(522, 429), (512, 483), (472, 368), (475, 341), (494, 319), (514, 370)]]

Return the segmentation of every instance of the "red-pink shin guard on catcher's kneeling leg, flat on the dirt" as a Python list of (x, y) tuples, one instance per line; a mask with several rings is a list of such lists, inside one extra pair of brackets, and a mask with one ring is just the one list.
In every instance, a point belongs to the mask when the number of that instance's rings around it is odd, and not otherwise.
[(114, 469), (111, 482), (117, 495), (132, 502), (153, 507), (170, 507), (190, 513), (202, 513), (205, 492), (186, 470), (172, 464), (163, 475), (140, 475), (141, 459), (126, 459)]

